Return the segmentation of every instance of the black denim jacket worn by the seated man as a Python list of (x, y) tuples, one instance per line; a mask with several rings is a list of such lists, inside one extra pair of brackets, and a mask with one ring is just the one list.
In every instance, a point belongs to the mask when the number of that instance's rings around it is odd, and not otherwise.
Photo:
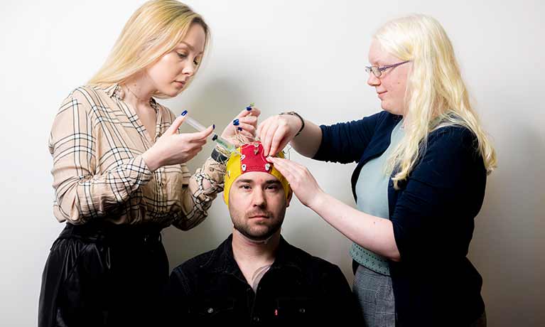
[(345, 326), (359, 317), (339, 267), (289, 245), (283, 237), (255, 293), (234, 260), (232, 235), (216, 250), (176, 267), (170, 281), (169, 326), (296, 322)]

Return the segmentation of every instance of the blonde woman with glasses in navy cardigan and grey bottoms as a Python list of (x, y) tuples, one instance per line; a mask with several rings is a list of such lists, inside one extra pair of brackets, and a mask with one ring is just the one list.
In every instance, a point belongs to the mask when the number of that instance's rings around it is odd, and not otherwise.
[(306, 167), (270, 159), (301, 203), (352, 240), (365, 326), (485, 326), (482, 278), (466, 256), (496, 156), (453, 47), (435, 19), (406, 16), (374, 34), (369, 63), (384, 111), (332, 126), (270, 117), (257, 130), (265, 152), (291, 142), (316, 160), (357, 163), (355, 209)]

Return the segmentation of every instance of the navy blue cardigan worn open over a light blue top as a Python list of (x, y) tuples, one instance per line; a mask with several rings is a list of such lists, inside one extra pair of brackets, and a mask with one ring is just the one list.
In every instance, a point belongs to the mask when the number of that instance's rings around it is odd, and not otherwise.
[[(357, 200), (362, 166), (386, 151), (400, 119), (383, 111), (322, 125), (314, 159), (357, 162), (352, 174)], [(477, 140), (464, 127), (431, 132), (426, 151), (399, 190), (389, 181), (389, 218), (401, 254), (399, 262), (389, 262), (397, 326), (468, 326), (484, 311), (482, 278), (466, 255), (485, 184)]]

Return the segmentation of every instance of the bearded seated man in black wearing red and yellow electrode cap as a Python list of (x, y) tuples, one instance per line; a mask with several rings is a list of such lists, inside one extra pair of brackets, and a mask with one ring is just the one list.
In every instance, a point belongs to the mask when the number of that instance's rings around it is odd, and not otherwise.
[[(171, 326), (272, 325), (357, 317), (340, 269), (289, 245), (280, 235), (291, 188), (259, 142), (227, 162), (224, 199), (233, 232), (217, 249), (176, 267), (168, 288)], [(218, 326), (220, 326), (218, 324)]]

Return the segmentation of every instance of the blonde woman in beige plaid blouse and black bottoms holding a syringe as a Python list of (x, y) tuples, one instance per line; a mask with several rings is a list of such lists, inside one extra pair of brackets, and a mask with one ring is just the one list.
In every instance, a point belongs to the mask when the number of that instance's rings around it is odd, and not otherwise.
[[(53, 211), (66, 226), (45, 264), (38, 326), (156, 326), (169, 273), (160, 232), (201, 223), (225, 173), (217, 149), (189, 172), (214, 126), (180, 134), (187, 111), (176, 117), (156, 98), (188, 87), (209, 38), (185, 4), (146, 2), (98, 73), (61, 104), (50, 152)], [(244, 109), (222, 136), (255, 134), (257, 116)]]

